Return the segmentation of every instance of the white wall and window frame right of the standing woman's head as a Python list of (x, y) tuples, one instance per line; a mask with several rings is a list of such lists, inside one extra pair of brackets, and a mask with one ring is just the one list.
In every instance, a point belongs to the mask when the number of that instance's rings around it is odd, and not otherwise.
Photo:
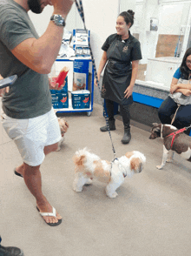
[[(181, 0), (135, 1), (135, 25), (131, 30), (139, 33), (139, 40), (142, 46), (141, 64), (147, 64), (149, 57), (155, 57), (159, 34), (184, 35), (185, 42), (183, 43), (182, 52), (186, 51), (190, 29), (190, 6), (190, 1)], [(159, 20), (158, 31), (150, 31), (151, 17)]]

